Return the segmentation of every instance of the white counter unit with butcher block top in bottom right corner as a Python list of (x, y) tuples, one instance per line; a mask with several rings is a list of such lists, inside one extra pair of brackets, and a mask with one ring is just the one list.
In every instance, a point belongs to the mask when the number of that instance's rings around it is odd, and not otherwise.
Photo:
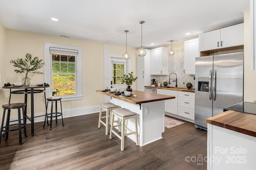
[(206, 123), (208, 170), (255, 169), (256, 115), (228, 110)]

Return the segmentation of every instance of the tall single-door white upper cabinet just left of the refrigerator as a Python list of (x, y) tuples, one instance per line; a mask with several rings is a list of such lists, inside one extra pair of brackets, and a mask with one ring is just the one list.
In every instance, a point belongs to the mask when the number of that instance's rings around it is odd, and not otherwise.
[(199, 57), (198, 38), (184, 41), (184, 74), (195, 74), (196, 57)]

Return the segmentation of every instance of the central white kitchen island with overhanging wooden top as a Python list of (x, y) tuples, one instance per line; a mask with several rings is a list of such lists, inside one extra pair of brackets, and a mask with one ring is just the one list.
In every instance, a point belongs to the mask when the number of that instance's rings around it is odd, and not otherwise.
[[(96, 90), (96, 92), (110, 96), (110, 102), (113, 104), (138, 114), (140, 146), (162, 139), (162, 133), (164, 132), (164, 100), (173, 99), (174, 96), (132, 90), (132, 94), (137, 97), (124, 98), (116, 96), (115, 93), (102, 92), (102, 90)], [(128, 120), (127, 127), (134, 130), (134, 122)], [(136, 141), (135, 135), (129, 135), (128, 137)]]

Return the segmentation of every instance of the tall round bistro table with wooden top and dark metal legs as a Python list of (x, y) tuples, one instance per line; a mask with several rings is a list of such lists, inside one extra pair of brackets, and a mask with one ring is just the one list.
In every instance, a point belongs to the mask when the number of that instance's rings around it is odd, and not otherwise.
[[(34, 94), (35, 93), (44, 93), (44, 100), (46, 101), (46, 96), (45, 96), (45, 88), (48, 88), (50, 86), (8, 86), (8, 87), (2, 87), (5, 89), (10, 89), (10, 97), (9, 97), (9, 104), (11, 101), (11, 94), (25, 94), (25, 101), (26, 103), (25, 106), (25, 115), (27, 119), (31, 122), (31, 135), (34, 135)], [(31, 118), (27, 116), (27, 99), (28, 99), (28, 94), (30, 95), (31, 98)], [(46, 102), (45, 102), (45, 108), (46, 108)], [(26, 122), (26, 120), (25, 120)]]

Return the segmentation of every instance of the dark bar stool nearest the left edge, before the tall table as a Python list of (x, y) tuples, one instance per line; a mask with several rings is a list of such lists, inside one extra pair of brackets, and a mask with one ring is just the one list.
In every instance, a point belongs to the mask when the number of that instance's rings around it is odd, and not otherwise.
[[(5, 135), (6, 135), (5, 140), (7, 140), (8, 139), (8, 134), (9, 134), (10, 131), (19, 130), (19, 143), (20, 143), (20, 145), (22, 144), (22, 137), (21, 137), (21, 129), (22, 128), (24, 128), (24, 134), (25, 134), (25, 137), (27, 137), (27, 134), (26, 134), (26, 116), (25, 116), (25, 112), (24, 112), (24, 107), (25, 106), (26, 106), (25, 103), (12, 103), (12, 104), (2, 105), (2, 108), (4, 109), (4, 113), (3, 113), (2, 125), (1, 125), (1, 130), (0, 130), (0, 143), (1, 143), (1, 138), (2, 138), (2, 132), (5, 132)], [(22, 108), (23, 123), (21, 123), (20, 108)], [(7, 112), (6, 126), (4, 126), (4, 117), (5, 117), (6, 109), (8, 110), (8, 112)], [(12, 125), (10, 125), (11, 109), (18, 109), (18, 123), (12, 124)], [(17, 129), (9, 129), (9, 127), (16, 126), (16, 125), (18, 125)], [(23, 125), (23, 126), (21, 126), (21, 125)]]

